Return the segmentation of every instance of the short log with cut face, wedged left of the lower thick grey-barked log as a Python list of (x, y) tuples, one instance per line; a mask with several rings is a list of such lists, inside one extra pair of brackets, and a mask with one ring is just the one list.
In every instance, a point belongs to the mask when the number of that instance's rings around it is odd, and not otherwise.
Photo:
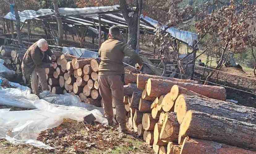
[(159, 138), (171, 142), (178, 141), (180, 124), (177, 121), (176, 113), (165, 113), (163, 127), (160, 131)]

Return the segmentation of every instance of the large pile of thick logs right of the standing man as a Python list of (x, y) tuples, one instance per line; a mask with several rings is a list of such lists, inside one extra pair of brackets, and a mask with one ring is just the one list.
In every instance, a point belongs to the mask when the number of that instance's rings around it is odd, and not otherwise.
[(129, 76), (124, 85), (128, 123), (155, 153), (256, 154), (256, 109), (225, 101), (224, 87)]

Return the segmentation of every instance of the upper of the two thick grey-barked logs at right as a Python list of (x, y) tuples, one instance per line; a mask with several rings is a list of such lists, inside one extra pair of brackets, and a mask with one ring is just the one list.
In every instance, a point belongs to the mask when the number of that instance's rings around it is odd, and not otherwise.
[(182, 122), (188, 110), (196, 110), (217, 116), (249, 122), (256, 124), (256, 109), (231, 102), (220, 101), (210, 98), (201, 98), (198, 96), (180, 95), (176, 100), (177, 119)]

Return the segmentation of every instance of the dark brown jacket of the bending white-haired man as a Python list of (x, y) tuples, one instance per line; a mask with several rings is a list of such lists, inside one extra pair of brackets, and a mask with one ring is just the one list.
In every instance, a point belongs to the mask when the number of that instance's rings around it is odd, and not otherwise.
[[(36, 68), (48, 68), (50, 67), (50, 62), (48, 61), (48, 56), (53, 53), (50, 49), (42, 52), (37, 46), (37, 42), (31, 45), (26, 51), (23, 61), (22, 61), (22, 71), (27, 79), (29, 79), (30, 74)], [(48, 55), (48, 56), (45, 56)]]

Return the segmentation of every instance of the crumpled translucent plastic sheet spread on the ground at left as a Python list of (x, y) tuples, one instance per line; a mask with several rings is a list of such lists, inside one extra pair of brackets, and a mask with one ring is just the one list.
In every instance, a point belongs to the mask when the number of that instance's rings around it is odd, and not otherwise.
[[(53, 147), (37, 141), (37, 136), (41, 131), (59, 126), (64, 118), (80, 122), (84, 116), (92, 113), (96, 117), (95, 121), (108, 124), (102, 108), (89, 104), (87, 107), (55, 105), (29, 94), (29, 89), (21, 89), (20, 87), (0, 90), (0, 105), (34, 109), (0, 109), (0, 139), (5, 138), (12, 144), (31, 144), (39, 148), (52, 149)], [(49, 93), (48, 96), (53, 95)]]

